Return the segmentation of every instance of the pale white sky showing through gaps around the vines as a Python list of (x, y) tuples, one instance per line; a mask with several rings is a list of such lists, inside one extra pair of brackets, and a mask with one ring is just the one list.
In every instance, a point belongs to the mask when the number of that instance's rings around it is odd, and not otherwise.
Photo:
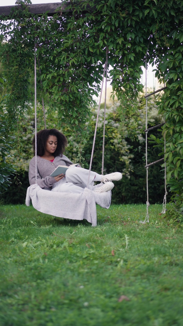
[[(53, 3), (53, 2), (61, 2), (61, 0), (31, 0), (33, 4), (39, 4), (39, 3)], [(0, 6), (13, 6), (15, 5), (16, 0), (0, 0)], [(154, 67), (153, 67), (154, 68)], [(147, 87), (150, 89), (159, 89), (160, 84), (158, 83), (157, 78), (155, 78), (155, 72), (153, 72), (152, 66), (148, 67), (148, 72), (147, 72)], [(110, 69), (110, 67), (109, 67)], [(143, 75), (141, 82), (143, 85), (145, 85), (145, 68), (142, 67), (143, 70)], [(110, 87), (110, 82), (107, 83), (107, 89), (108, 93), (110, 94), (111, 87)], [(109, 96), (110, 97), (110, 96)]]

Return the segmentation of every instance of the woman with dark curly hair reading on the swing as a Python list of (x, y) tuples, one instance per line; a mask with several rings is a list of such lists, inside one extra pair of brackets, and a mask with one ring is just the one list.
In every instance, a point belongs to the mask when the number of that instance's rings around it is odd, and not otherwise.
[[(58, 192), (83, 193), (87, 186), (89, 170), (80, 167), (70, 167), (65, 175), (60, 174), (50, 177), (50, 174), (58, 165), (70, 166), (73, 164), (68, 157), (63, 155), (67, 145), (66, 137), (57, 129), (44, 129), (37, 133), (37, 184), (41, 188)], [(35, 154), (35, 137), (33, 139)], [(111, 190), (114, 184), (111, 181), (118, 181), (122, 178), (120, 172), (100, 175), (90, 172), (89, 189), (93, 190), (94, 181), (101, 181), (104, 184), (93, 191), (101, 193)], [(35, 156), (29, 165), (29, 183), (35, 184)]]

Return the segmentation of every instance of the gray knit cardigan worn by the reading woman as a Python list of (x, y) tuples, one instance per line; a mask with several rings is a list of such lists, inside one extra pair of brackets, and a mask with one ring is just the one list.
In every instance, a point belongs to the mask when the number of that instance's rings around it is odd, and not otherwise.
[[(67, 156), (56, 156), (53, 162), (37, 156), (37, 184), (41, 188), (51, 190), (51, 187), (56, 180), (54, 177), (50, 177), (50, 174), (57, 168), (58, 165), (69, 166), (73, 164)], [(29, 183), (35, 184), (35, 156), (31, 159), (29, 164)]]

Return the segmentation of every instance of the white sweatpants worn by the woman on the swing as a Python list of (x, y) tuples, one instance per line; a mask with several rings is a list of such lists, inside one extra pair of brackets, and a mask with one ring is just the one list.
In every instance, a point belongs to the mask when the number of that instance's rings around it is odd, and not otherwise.
[[(51, 191), (57, 192), (72, 192), (80, 194), (84, 192), (84, 188), (87, 186), (89, 170), (70, 167), (65, 172), (65, 177), (60, 181), (56, 182), (52, 186)], [(93, 189), (94, 181), (101, 181), (102, 176), (96, 172), (90, 172), (90, 180), (88, 188)]]

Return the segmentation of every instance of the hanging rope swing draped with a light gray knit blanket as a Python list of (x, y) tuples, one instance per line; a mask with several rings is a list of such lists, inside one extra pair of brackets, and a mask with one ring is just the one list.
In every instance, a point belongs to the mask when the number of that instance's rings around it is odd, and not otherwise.
[[(38, 60), (38, 66), (40, 72), (39, 60)], [(102, 97), (102, 90), (104, 85), (104, 77), (106, 74), (101, 174), (103, 175), (104, 172), (107, 66), (108, 66), (108, 48), (106, 50), (106, 62), (104, 65), (100, 100), (99, 100), (98, 111), (97, 111), (97, 119), (96, 119), (95, 133), (94, 133), (93, 146), (91, 152), (88, 183), (87, 183), (87, 187), (84, 189), (84, 193), (75, 194), (75, 193), (53, 192), (47, 189), (42, 189), (39, 185), (37, 185), (37, 138), (36, 138), (37, 102), (36, 102), (36, 45), (35, 45), (35, 184), (29, 186), (27, 189), (27, 195), (25, 200), (27, 206), (30, 205), (30, 201), (32, 200), (33, 207), (41, 213), (62, 217), (62, 218), (75, 219), (75, 220), (86, 219), (88, 222), (92, 223), (92, 226), (97, 225), (96, 203), (103, 208), (110, 207), (111, 191), (96, 193), (88, 189), (93, 151), (94, 151), (96, 132), (97, 132), (97, 125), (98, 125), (98, 118), (99, 118), (99, 111), (100, 111), (100, 104), (101, 104), (101, 97)], [(44, 124), (46, 129), (46, 118), (45, 118), (45, 108), (44, 108), (43, 98), (42, 98), (42, 106), (43, 106), (43, 114), (44, 114)]]

